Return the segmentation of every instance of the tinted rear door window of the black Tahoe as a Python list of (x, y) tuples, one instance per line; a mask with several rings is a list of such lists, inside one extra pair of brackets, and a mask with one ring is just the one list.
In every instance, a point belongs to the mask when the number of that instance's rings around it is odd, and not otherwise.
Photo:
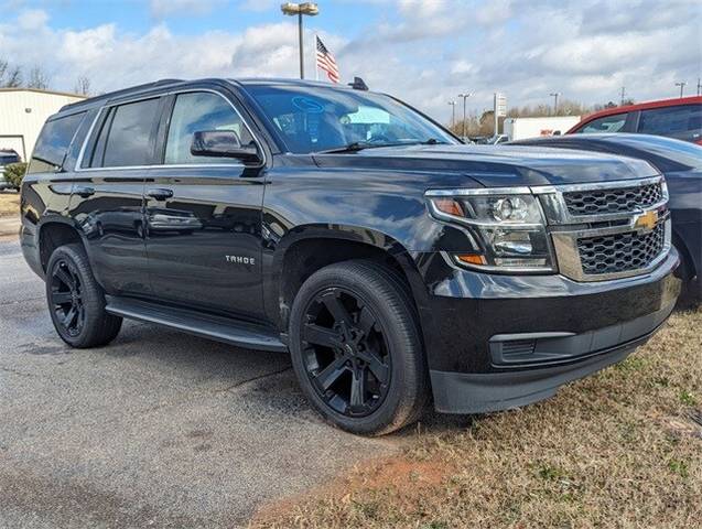
[(100, 143), (102, 134), (107, 134), (102, 163), (94, 161), (93, 165), (120, 168), (151, 163), (152, 130), (158, 108), (159, 99), (148, 99), (117, 107), (114, 110), (114, 116), (108, 116), (111, 118), (111, 123), (108, 127), (102, 127), (100, 138), (98, 138), (98, 143)]

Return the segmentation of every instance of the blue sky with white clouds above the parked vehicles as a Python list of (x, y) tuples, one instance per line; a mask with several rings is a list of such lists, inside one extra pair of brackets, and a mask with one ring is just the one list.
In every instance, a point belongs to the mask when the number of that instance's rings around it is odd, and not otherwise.
[[(51, 87), (78, 77), (97, 93), (158, 78), (296, 77), (296, 19), (269, 0), (0, 0), (0, 58), (42, 67)], [(468, 114), (551, 104), (586, 105), (696, 93), (701, 0), (321, 0), (305, 23), (343, 83), (363, 77), (444, 122), (449, 101)], [(457, 111), (462, 112), (458, 104)]]

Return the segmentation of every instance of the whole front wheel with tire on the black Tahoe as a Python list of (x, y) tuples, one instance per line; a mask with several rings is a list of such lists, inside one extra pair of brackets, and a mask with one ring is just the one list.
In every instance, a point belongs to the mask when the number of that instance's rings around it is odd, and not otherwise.
[(318, 270), (295, 296), (289, 331), (300, 386), (327, 421), (381, 435), (421, 415), (424, 348), (408, 288), (391, 269), (358, 260)]

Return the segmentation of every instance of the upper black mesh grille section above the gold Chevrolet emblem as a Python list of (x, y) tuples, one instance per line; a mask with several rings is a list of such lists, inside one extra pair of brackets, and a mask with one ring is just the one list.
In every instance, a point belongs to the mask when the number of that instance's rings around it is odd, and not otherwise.
[(563, 193), (571, 215), (603, 215), (645, 209), (663, 199), (660, 182), (636, 187), (571, 191)]

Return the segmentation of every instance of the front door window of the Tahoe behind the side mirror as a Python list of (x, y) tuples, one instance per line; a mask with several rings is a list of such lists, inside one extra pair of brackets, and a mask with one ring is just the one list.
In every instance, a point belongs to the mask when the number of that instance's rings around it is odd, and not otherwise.
[(239, 115), (222, 96), (206, 91), (180, 94), (171, 116), (164, 163), (231, 163), (226, 158), (191, 154), (193, 134), (205, 130), (231, 130), (241, 144), (253, 141)]

